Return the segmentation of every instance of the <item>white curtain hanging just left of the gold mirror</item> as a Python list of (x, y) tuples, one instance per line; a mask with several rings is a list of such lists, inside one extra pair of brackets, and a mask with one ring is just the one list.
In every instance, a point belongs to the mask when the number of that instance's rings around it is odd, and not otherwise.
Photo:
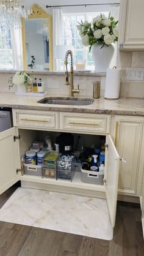
[(21, 28), (10, 28), (12, 37), (13, 69), (23, 70), (23, 47)]

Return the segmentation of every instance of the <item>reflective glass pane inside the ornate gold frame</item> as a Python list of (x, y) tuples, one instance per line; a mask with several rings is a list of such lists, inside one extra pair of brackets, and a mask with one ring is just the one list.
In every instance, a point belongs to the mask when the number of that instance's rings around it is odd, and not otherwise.
[(24, 23), (27, 68), (32, 67), (33, 59), (33, 69), (49, 69), (48, 18), (27, 19)]

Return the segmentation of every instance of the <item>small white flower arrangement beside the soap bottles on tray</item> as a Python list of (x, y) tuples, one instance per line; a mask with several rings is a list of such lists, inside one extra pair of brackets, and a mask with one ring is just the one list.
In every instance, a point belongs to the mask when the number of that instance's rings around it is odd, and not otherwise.
[(13, 77), (9, 80), (9, 88), (13, 87), (13, 85), (25, 85), (27, 88), (27, 85), (32, 83), (32, 78), (27, 75), (24, 71), (18, 71), (15, 73)]

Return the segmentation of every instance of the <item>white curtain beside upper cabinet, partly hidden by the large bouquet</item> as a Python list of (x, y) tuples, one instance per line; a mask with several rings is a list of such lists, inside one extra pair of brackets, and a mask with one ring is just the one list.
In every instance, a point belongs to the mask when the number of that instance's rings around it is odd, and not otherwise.
[[(120, 10), (119, 4), (113, 4), (112, 6), (109, 6), (110, 15), (113, 16), (115, 20), (118, 20), (119, 18), (119, 10)], [(112, 61), (110, 62), (110, 68), (112, 68), (113, 66), (116, 66), (117, 64), (117, 43), (114, 43), (113, 46), (115, 47), (115, 51), (114, 51)]]

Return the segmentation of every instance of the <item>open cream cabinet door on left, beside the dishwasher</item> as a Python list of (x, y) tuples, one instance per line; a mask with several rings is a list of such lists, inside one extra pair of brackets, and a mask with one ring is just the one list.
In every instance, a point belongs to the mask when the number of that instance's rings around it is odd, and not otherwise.
[(0, 194), (19, 180), (16, 169), (20, 168), (20, 157), (18, 140), (13, 140), (15, 135), (15, 127), (0, 133)]

